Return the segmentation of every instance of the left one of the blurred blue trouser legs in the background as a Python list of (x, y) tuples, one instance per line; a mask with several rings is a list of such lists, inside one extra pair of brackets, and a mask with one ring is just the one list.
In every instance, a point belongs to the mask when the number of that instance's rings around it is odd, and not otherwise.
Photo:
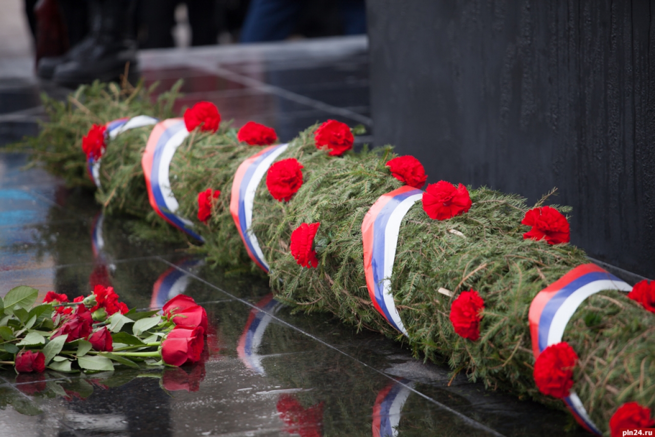
[(304, 3), (303, 0), (252, 0), (241, 29), (240, 42), (286, 39), (293, 32)]

